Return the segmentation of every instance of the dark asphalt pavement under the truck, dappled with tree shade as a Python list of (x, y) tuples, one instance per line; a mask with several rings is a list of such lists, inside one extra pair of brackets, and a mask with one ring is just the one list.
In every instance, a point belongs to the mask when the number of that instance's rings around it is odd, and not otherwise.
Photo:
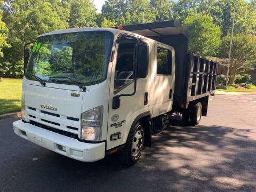
[(0, 192), (256, 191), (256, 95), (211, 97), (194, 127), (180, 117), (132, 167), (116, 155), (83, 163), (39, 147), (0, 121)]

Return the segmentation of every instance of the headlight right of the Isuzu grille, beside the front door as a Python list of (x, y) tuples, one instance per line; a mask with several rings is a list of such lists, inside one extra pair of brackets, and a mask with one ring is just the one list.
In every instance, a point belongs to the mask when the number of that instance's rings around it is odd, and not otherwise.
[(103, 119), (103, 106), (81, 114), (81, 139), (100, 141)]

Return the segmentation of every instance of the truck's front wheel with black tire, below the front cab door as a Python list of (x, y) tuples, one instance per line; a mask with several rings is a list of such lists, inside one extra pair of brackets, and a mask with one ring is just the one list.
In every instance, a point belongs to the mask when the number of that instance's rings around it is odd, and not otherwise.
[(134, 125), (133, 132), (131, 133), (129, 141), (126, 143), (124, 150), (120, 151), (118, 154), (121, 163), (131, 166), (139, 160), (143, 149), (144, 139), (143, 126), (141, 122), (137, 122)]

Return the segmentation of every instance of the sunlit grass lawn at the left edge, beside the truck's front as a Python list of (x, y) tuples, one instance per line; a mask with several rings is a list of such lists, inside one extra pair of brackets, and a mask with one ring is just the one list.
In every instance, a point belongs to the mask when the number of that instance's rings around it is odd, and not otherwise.
[(0, 83), (0, 115), (21, 110), (22, 79), (3, 78)]

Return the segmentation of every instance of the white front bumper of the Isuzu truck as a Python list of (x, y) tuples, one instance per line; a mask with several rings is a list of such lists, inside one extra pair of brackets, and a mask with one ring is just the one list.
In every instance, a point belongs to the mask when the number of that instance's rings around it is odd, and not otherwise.
[[(21, 120), (13, 122), (13, 130), (24, 139), (78, 161), (94, 162), (105, 157), (106, 142), (80, 142), (41, 127), (23, 123)], [(58, 145), (66, 147), (66, 151), (60, 150)]]

